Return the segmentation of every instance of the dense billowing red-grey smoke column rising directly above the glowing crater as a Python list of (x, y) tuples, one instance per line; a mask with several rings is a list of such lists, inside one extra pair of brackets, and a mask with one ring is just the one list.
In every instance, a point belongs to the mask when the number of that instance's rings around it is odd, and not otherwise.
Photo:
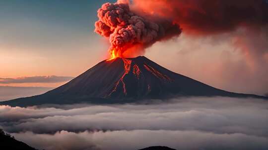
[(120, 0), (103, 4), (98, 17), (95, 32), (109, 38), (110, 53), (114, 51), (119, 57), (135, 55), (157, 40), (181, 34), (179, 25), (172, 20), (137, 15), (129, 3)]

